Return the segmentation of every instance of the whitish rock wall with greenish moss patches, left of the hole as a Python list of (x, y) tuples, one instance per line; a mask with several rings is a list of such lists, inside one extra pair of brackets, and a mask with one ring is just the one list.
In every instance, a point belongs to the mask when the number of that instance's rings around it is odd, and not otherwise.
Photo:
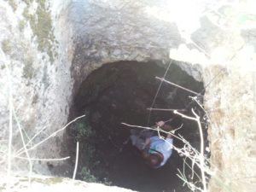
[[(70, 27), (64, 25), (63, 18), (55, 22), (57, 12), (53, 14), (52, 9), (47, 1), (0, 2), (0, 139), (5, 154), (2, 172), (7, 169), (11, 95), (13, 155), (22, 146), (17, 122), (26, 143), (43, 128), (44, 132), (33, 143), (42, 141), (67, 123), (73, 82), (69, 72), (73, 54), (67, 44)], [(64, 35), (56, 30), (61, 26), (66, 28)], [(60, 143), (61, 134), (31, 150), (31, 157), (60, 157)], [(27, 160), (12, 157), (12, 163), (14, 171), (27, 172)], [(47, 168), (37, 162), (34, 162), (34, 170), (49, 174)]]

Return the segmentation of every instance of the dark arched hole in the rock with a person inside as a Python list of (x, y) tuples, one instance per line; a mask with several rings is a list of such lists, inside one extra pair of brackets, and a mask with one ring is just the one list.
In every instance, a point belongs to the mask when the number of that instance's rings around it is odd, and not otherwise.
[[(160, 67), (161, 66), (161, 67)], [(130, 127), (121, 125), (153, 126), (156, 121), (171, 119), (171, 125), (183, 128), (177, 132), (195, 147), (200, 143), (195, 122), (175, 117), (172, 112), (149, 111), (165, 65), (157, 61), (119, 61), (104, 64), (90, 73), (74, 97), (73, 117), (86, 114), (68, 130), (74, 144), (79, 141), (78, 178), (99, 183), (109, 183), (137, 191), (187, 191), (177, 177), (177, 168), (183, 170), (183, 159), (173, 151), (166, 165), (159, 169), (148, 167), (131, 142)], [(203, 84), (183, 72), (174, 62), (166, 79), (189, 90), (201, 92)], [(191, 95), (170, 84), (161, 85), (154, 108), (188, 109)], [(148, 119), (150, 117), (150, 119)], [(174, 141), (177, 147), (183, 143)], [(71, 156), (75, 156), (74, 149)], [(186, 173), (187, 174), (187, 173)], [(188, 173), (189, 175), (189, 173)]]

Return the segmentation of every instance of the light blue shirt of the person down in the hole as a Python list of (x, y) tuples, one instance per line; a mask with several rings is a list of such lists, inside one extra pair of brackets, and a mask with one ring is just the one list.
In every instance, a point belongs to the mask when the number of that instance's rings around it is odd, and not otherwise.
[[(150, 137), (150, 147), (148, 149), (149, 154), (155, 154), (158, 151), (164, 156), (164, 160), (160, 163), (160, 166), (164, 166), (166, 161), (172, 154), (173, 138), (161, 139), (158, 136)], [(157, 166), (156, 168), (160, 167)]]

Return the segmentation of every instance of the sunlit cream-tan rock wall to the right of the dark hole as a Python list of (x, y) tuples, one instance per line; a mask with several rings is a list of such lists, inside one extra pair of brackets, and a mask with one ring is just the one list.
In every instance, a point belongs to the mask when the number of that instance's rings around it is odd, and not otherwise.
[(256, 67), (251, 53), (243, 52), (226, 68), (212, 66), (206, 72), (213, 77), (222, 72), (205, 97), (212, 121), (210, 191), (255, 190)]

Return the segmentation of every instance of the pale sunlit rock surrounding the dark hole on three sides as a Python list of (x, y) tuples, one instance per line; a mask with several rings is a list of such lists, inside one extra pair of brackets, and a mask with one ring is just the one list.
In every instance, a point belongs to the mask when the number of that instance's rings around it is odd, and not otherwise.
[[(167, 63), (171, 56), (206, 86), (210, 190), (253, 191), (255, 4), (198, 2), (0, 0), (1, 161), (10, 160), (10, 128), (12, 171), (28, 168), (19, 159), (26, 157), (21, 135), (32, 140), (31, 158), (60, 157), (63, 131), (33, 146), (67, 123), (73, 94), (104, 63)], [(33, 162), (34, 172), (49, 174), (46, 164)], [(1, 163), (3, 172), (7, 167)]]

